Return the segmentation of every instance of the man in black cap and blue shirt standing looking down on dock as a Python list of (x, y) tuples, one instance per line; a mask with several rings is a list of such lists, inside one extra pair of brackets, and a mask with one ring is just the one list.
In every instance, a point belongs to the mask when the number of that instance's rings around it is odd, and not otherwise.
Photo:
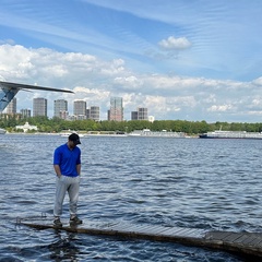
[(80, 138), (76, 133), (72, 133), (68, 142), (57, 147), (53, 153), (53, 168), (57, 174), (53, 225), (57, 227), (62, 226), (60, 216), (67, 192), (70, 201), (70, 224), (82, 224), (76, 215), (81, 172), (81, 150), (78, 144), (81, 144)]

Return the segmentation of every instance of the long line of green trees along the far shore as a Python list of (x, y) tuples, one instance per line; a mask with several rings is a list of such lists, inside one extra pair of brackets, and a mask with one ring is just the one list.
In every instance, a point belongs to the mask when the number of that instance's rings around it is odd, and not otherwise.
[[(247, 123), (247, 122), (214, 122), (206, 121), (187, 121), (187, 120), (155, 120), (150, 122), (146, 120), (129, 120), (129, 121), (94, 121), (94, 120), (63, 120), (60, 118), (47, 117), (31, 117), (21, 118), (17, 115), (2, 114), (0, 119), (0, 128), (9, 132), (22, 132), (16, 130), (16, 126), (23, 126), (28, 122), (32, 126), (37, 126), (38, 132), (58, 133), (64, 130), (76, 132), (98, 132), (98, 131), (114, 131), (114, 132), (132, 132), (133, 130), (150, 129), (151, 131), (166, 130), (172, 132), (184, 132), (187, 134), (199, 134), (214, 130), (227, 131), (247, 131), (261, 132), (262, 123)], [(35, 132), (35, 131), (31, 131)]]

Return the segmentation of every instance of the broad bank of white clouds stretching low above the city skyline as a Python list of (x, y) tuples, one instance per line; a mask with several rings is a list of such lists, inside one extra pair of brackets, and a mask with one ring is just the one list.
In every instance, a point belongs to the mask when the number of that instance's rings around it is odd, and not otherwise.
[[(23, 46), (0, 46), (0, 79), (9, 82), (70, 88), (75, 94), (20, 92), (17, 108), (32, 108), (33, 97), (48, 98), (49, 116), (53, 100), (74, 99), (87, 106), (100, 106), (103, 120), (111, 96), (121, 96), (124, 119), (136, 107), (147, 107), (155, 119), (259, 121), (262, 111), (261, 79), (251, 82), (215, 80), (156, 73), (139, 73), (127, 69), (123, 59), (100, 60), (80, 52), (58, 52)], [(251, 114), (258, 112), (258, 114)], [(221, 116), (225, 119), (221, 119)]]

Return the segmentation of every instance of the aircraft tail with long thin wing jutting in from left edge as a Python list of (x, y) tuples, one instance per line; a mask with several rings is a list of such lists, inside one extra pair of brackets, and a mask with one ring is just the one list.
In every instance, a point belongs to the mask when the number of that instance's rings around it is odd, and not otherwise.
[[(63, 93), (73, 93), (68, 90), (58, 90), (52, 87), (45, 87), (38, 85), (28, 85), (28, 84), (19, 84), (11, 82), (0, 81), (0, 112), (8, 106), (8, 104), (14, 98), (14, 96), (19, 93), (19, 91), (51, 91), (51, 92), (63, 92)], [(4, 129), (0, 129), (0, 134), (4, 134), (7, 131)]]

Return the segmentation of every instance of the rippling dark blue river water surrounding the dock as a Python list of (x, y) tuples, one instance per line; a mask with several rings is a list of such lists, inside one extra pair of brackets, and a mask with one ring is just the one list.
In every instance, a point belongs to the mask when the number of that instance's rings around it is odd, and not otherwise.
[[(52, 153), (66, 140), (1, 135), (0, 261), (245, 261), (177, 243), (17, 225), (16, 217), (51, 216)], [(262, 141), (94, 136), (80, 147), (84, 221), (262, 231)]]

